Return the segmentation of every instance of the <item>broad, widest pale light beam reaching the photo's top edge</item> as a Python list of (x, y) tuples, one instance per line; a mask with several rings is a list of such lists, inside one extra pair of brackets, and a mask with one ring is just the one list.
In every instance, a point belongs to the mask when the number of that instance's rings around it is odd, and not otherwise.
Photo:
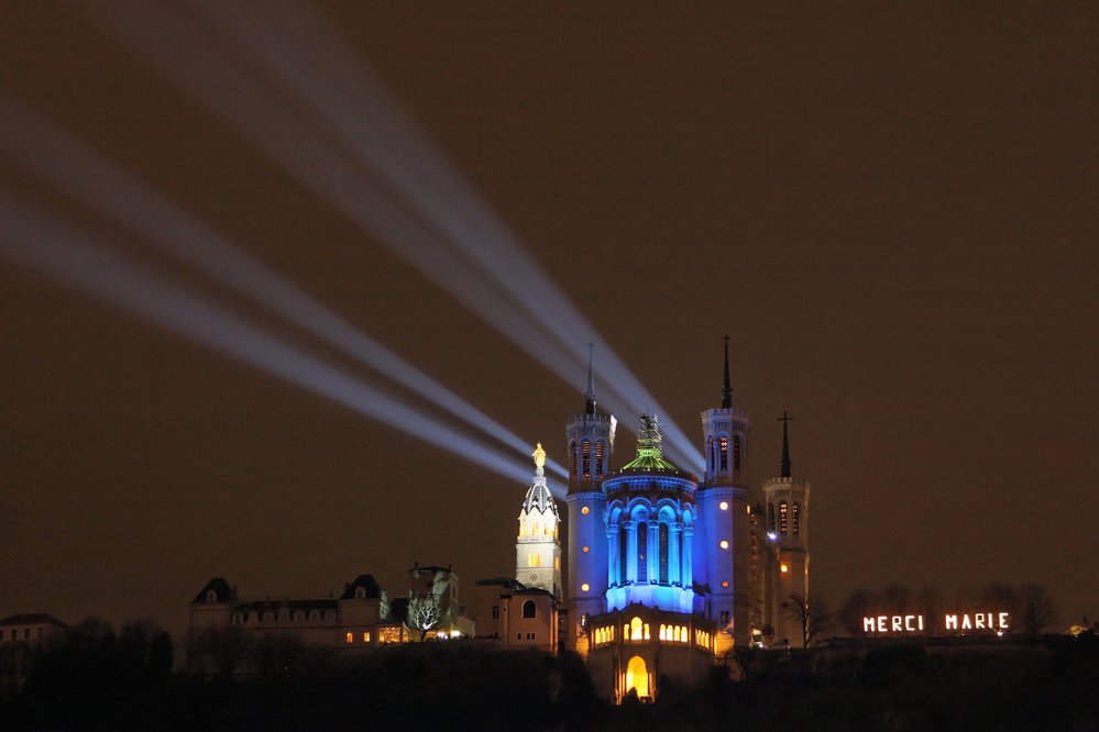
[[(87, 14), (299, 181), (570, 384), (600, 354), (612, 411), (663, 412), (583, 314), (309, 8), (81, 2)], [(666, 415), (667, 412), (663, 412)], [(631, 421), (627, 421), (629, 423)], [(664, 445), (701, 472), (667, 418)]]

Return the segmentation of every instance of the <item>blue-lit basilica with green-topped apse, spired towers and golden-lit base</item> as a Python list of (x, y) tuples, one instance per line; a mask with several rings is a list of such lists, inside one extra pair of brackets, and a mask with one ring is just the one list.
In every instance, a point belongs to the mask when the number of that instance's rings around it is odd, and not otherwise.
[(701, 680), (734, 645), (801, 637), (810, 486), (790, 475), (787, 419), (781, 474), (754, 491), (726, 342), (722, 404), (702, 413), (702, 479), (663, 456), (653, 414), (640, 418), (636, 457), (612, 469), (614, 418), (596, 409), (589, 370), (584, 412), (565, 422), (564, 640), (602, 692), (651, 698), (661, 676)]

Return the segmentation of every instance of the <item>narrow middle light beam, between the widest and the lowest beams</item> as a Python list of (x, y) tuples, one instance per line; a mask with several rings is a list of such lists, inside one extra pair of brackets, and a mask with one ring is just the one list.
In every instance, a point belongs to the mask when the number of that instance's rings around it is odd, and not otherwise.
[[(224, 236), (211, 231), (143, 181), (25, 104), (0, 93), (0, 152), (24, 170), (107, 218), (142, 235), (157, 248), (199, 268), (361, 363), (416, 391), (520, 455), (530, 444), (494, 421), (421, 369), (364, 334)], [(550, 470), (567, 478), (561, 465)]]

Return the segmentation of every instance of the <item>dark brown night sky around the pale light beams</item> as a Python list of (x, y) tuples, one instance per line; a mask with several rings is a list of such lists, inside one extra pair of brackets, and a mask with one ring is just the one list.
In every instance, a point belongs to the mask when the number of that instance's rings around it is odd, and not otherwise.
[[(563, 461), (582, 366), (551, 373), (80, 8), (0, 3), (4, 99)], [(1065, 621), (1099, 618), (1097, 5), (314, 10), (700, 444), (732, 336), (754, 487), (794, 418), (814, 594), (1035, 580)], [(2, 152), (0, 195), (301, 339)], [(212, 576), (327, 597), (372, 573), (400, 596), (418, 561), (453, 564), (471, 599), (514, 572), (521, 480), (6, 251), (0, 617), (178, 631)], [(637, 414), (616, 417), (622, 465)]]

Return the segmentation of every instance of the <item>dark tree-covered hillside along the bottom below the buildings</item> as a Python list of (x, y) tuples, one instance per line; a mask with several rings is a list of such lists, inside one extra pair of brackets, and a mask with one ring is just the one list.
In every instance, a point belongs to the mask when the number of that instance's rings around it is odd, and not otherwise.
[(84, 623), (39, 653), (0, 730), (1096, 730), (1099, 639), (759, 652), (656, 703), (596, 697), (570, 654), (474, 643), (300, 654), (250, 680), (171, 672), (164, 633)]

